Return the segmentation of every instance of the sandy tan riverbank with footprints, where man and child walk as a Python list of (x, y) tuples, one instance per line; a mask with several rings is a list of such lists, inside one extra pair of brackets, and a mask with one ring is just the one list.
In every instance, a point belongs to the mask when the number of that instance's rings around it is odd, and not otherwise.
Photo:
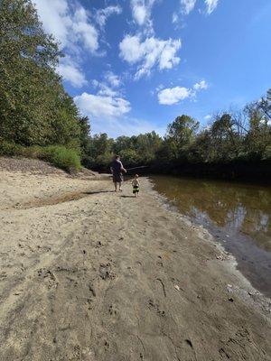
[(149, 180), (134, 199), (128, 183), (10, 162), (1, 361), (271, 360), (270, 300)]

